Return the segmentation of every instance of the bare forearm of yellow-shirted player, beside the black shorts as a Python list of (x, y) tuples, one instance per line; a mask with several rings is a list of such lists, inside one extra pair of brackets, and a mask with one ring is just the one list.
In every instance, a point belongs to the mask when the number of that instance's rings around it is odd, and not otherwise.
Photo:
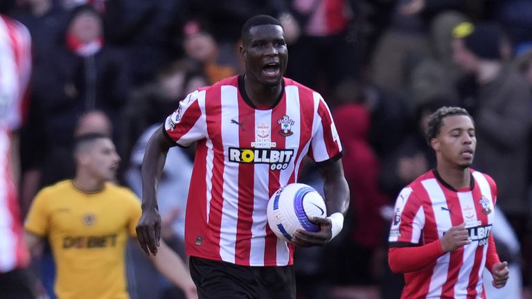
[(184, 261), (163, 240), (159, 246), (159, 253), (150, 256), (150, 260), (161, 274), (183, 290), (187, 299), (197, 298), (196, 286)]

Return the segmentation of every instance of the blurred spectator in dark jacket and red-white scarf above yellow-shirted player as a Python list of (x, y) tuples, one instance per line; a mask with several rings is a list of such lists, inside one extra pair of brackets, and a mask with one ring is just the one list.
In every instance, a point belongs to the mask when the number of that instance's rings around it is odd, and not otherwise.
[(107, 114), (114, 136), (121, 129), (129, 79), (120, 55), (105, 46), (101, 26), (94, 8), (78, 6), (71, 12), (62, 48), (35, 69), (23, 145), (28, 152), (37, 146), (42, 149), (39, 155), (26, 156), (24, 169), (38, 174), (37, 188), (64, 179), (56, 166), (64, 156), (56, 149), (71, 146), (76, 120), (86, 111)]

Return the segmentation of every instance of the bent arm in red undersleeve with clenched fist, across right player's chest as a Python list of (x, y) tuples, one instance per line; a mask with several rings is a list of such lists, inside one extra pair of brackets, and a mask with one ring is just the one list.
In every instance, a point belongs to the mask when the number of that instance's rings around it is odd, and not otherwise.
[(445, 253), (470, 244), (465, 223), (453, 226), (447, 230), (441, 239), (428, 244), (417, 246), (404, 242), (393, 242), (388, 251), (388, 264), (393, 273), (408, 273), (419, 271), (429, 264), (436, 262)]

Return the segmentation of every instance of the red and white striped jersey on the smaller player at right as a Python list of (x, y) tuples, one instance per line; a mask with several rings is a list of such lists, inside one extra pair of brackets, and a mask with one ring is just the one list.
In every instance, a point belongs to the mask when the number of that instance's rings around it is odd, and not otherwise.
[(434, 242), (464, 222), (472, 240), (425, 269), (405, 273), (401, 298), (486, 298), (482, 273), (497, 187), (490, 176), (471, 173), (472, 188), (467, 190), (453, 190), (431, 171), (400, 192), (389, 235), (391, 247)]

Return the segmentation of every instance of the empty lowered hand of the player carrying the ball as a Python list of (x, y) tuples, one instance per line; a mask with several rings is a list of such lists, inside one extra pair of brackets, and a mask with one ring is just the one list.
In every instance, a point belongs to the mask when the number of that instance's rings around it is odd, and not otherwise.
[(161, 215), (155, 208), (143, 209), (139, 224), (136, 225), (136, 237), (143, 251), (157, 255), (159, 239), (161, 239)]

